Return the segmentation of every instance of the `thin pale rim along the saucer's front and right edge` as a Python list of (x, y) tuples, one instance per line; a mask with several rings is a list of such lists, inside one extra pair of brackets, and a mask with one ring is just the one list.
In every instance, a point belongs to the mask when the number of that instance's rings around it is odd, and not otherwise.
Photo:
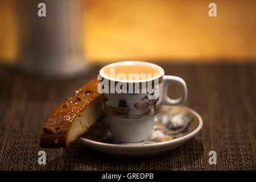
[(126, 145), (126, 144), (113, 144), (113, 143), (102, 143), (102, 142), (96, 142), (94, 140), (86, 139), (83, 137), (79, 137), (79, 141), (81, 143), (84, 143), (85, 145), (93, 146), (93, 147), (101, 147), (101, 148), (108, 148), (108, 149), (118, 149), (118, 150), (142, 150), (142, 149), (148, 149), (148, 148), (159, 148), (159, 147), (168, 147), (171, 145), (179, 144), (181, 142), (185, 142), (188, 139), (191, 139), (194, 137), (203, 127), (203, 118), (199, 113), (197, 113), (195, 110), (189, 108), (188, 106), (180, 105), (180, 107), (183, 107), (185, 110), (188, 110), (190, 113), (195, 115), (199, 119), (199, 125), (196, 127), (195, 130), (193, 130), (191, 133), (186, 134), (182, 137), (175, 138), (172, 140), (164, 141), (164, 142), (158, 142), (158, 143), (149, 143), (149, 144), (134, 144), (134, 145)]

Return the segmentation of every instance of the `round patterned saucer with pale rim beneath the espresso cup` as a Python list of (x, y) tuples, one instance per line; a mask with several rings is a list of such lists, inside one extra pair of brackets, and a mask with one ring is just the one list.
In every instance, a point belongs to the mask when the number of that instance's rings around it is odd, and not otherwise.
[(157, 115), (152, 139), (140, 143), (120, 143), (111, 138), (108, 118), (102, 118), (79, 138), (80, 143), (106, 154), (139, 157), (164, 154), (194, 137), (203, 119), (186, 106), (163, 106)]

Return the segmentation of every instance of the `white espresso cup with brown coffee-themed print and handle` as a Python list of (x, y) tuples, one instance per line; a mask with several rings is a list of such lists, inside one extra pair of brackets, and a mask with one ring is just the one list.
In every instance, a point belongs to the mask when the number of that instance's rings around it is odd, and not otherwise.
[[(157, 76), (144, 80), (119, 80), (109, 77), (106, 67), (146, 65), (159, 71)], [(112, 138), (125, 143), (150, 140), (155, 129), (156, 114), (162, 105), (181, 105), (187, 99), (187, 85), (176, 76), (164, 75), (159, 65), (143, 61), (122, 61), (106, 65), (100, 70), (98, 92), (102, 94), (102, 110), (109, 120)], [(172, 100), (167, 96), (168, 85), (177, 83), (182, 96)]]

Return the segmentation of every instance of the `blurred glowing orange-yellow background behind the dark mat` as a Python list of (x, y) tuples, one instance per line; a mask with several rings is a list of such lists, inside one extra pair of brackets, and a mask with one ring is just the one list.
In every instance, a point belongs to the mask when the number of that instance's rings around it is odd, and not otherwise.
[[(209, 17), (208, 5), (217, 5)], [(84, 52), (117, 60), (255, 61), (256, 1), (87, 0)], [(14, 1), (0, 0), (0, 60), (18, 55)]]

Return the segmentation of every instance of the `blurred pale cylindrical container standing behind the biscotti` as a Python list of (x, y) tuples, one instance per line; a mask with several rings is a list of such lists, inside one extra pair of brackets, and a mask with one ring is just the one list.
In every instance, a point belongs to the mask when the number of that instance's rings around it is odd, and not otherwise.
[[(39, 3), (46, 17), (39, 17)], [(84, 14), (81, 0), (16, 2), (18, 67), (42, 75), (73, 76), (85, 71)]]

